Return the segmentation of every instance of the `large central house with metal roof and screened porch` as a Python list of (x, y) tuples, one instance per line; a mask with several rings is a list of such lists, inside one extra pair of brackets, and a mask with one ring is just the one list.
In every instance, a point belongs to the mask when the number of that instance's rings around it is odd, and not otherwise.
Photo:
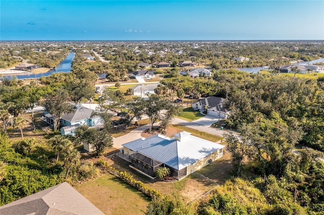
[(154, 135), (123, 144), (129, 166), (154, 178), (159, 167), (171, 170), (180, 180), (223, 156), (224, 145), (217, 144), (182, 131), (174, 137)]

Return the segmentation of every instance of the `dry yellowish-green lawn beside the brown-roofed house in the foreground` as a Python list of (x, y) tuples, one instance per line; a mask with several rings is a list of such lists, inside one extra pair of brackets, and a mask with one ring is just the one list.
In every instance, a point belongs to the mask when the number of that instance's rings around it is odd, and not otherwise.
[(145, 214), (150, 201), (136, 188), (110, 174), (75, 189), (105, 214)]

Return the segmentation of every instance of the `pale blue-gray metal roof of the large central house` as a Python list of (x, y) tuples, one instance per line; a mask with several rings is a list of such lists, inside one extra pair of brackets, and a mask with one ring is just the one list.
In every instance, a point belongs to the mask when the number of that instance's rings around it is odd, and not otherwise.
[(123, 146), (176, 170), (181, 170), (225, 147), (224, 145), (191, 136), (188, 132), (180, 132), (173, 138), (157, 134), (125, 143)]

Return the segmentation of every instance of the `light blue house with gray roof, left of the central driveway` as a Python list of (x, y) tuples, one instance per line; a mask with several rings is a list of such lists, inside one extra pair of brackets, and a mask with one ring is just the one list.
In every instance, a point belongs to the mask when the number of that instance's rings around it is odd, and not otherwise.
[(89, 127), (98, 127), (103, 124), (100, 116), (92, 116), (94, 110), (78, 106), (69, 114), (64, 114), (61, 119), (61, 134), (74, 135), (75, 129), (80, 125), (87, 125)]

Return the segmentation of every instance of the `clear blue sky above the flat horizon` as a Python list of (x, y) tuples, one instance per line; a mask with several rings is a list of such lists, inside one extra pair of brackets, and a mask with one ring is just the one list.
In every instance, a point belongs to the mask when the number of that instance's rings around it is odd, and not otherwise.
[(0, 1), (0, 40), (324, 39), (324, 1)]

